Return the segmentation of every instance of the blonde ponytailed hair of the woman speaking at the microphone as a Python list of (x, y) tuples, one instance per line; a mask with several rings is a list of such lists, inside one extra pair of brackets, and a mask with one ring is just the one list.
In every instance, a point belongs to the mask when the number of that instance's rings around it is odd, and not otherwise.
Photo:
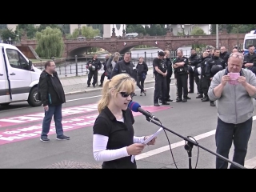
[(133, 93), (135, 90), (135, 80), (129, 74), (115, 75), (111, 80), (104, 82), (102, 87), (102, 98), (98, 102), (98, 113), (100, 114), (103, 109), (110, 103), (110, 90), (115, 91), (114, 97), (118, 92), (126, 90), (127, 93)]

